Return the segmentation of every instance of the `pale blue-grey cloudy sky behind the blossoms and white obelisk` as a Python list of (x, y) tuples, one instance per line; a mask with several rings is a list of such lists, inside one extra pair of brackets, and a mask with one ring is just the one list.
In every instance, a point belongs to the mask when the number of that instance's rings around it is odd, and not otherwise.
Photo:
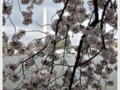
[[(87, 0), (85, 0), (84, 6), (87, 8), (87, 11), (88, 11), (88, 6), (87, 6), (86, 1)], [(42, 5), (34, 6), (34, 9), (33, 9), (34, 14), (32, 16), (33, 23), (29, 24), (29, 25), (23, 25), (22, 24), (23, 16), (21, 15), (21, 13), (19, 11), (18, 2), (17, 2), (17, 0), (14, 0), (13, 10), (12, 10), (12, 14), (10, 15), (10, 17), (11, 17), (13, 23), (16, 25), (17, 30), (25, 29), (25, 30), (41, 30), (41, 31), (43, 31), (43, 28), (38, 26), (35, 22), (37, 21), (40, 25), (43, 25), (43, 8), (44, 7), (46, 7), (46, 9), (47, 9), (47, 23), (51, 24), (51, 17), (56, 13), (57, 10), (63, 8), (63, 4), (62, 3), (55, 4), (55, 3), (53, 3), (52, 0), (44, 0)], [(26, 11), (26, 5), (21, 5), (21, 10)], [(102, 10), (100, 10), (100, 14), (102, 14)], [(100, 15), (100, 17), (101, 17), (101, 15)], [(86, 20), (83, 25), (87, 26), (87, 23), (88, 23), (88, 20)], [(107, 25), (106, 28), (108, 31), (112, 29), (109, 25)], [(47, 30), (48, 30), (48, 32), (53, 33), (50, 26), (47, 26)], [(5, 31), (9, 35), (9, 38), (12, 37), (12, 35), (14, 33), (14, 27), (10, 23), (9, 19), (7, 19), (6, 24), (3, 27), (3, 31)], [(70, 36), (72, 35), (71, 32), (69, 34), (70, 34)], [(28, 43), (33, 39), (40, 38), (41, 36), (43, 36), (42, 33), (29, 32), (29, 33), (26, 33), (26, 35), (21, 39), (21, 41)], [(74, 37), (73, 38), (71, 37), (72, 45), (78, 45), (80, 37), (81, 37), (80, 33), (74, 34)], [(117, 37), (117, 35), (115, 37)]]

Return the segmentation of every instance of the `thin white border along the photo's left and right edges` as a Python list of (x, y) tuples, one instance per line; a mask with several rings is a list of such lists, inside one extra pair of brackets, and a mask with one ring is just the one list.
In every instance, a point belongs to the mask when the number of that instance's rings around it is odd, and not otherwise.
[[(117, 0), (118, 5), (118, 74), (117, 74), (117, 89), (120, 89), (120, 0)], [(0, 90), (2, 89), (2, 0), (0, 0)]]

